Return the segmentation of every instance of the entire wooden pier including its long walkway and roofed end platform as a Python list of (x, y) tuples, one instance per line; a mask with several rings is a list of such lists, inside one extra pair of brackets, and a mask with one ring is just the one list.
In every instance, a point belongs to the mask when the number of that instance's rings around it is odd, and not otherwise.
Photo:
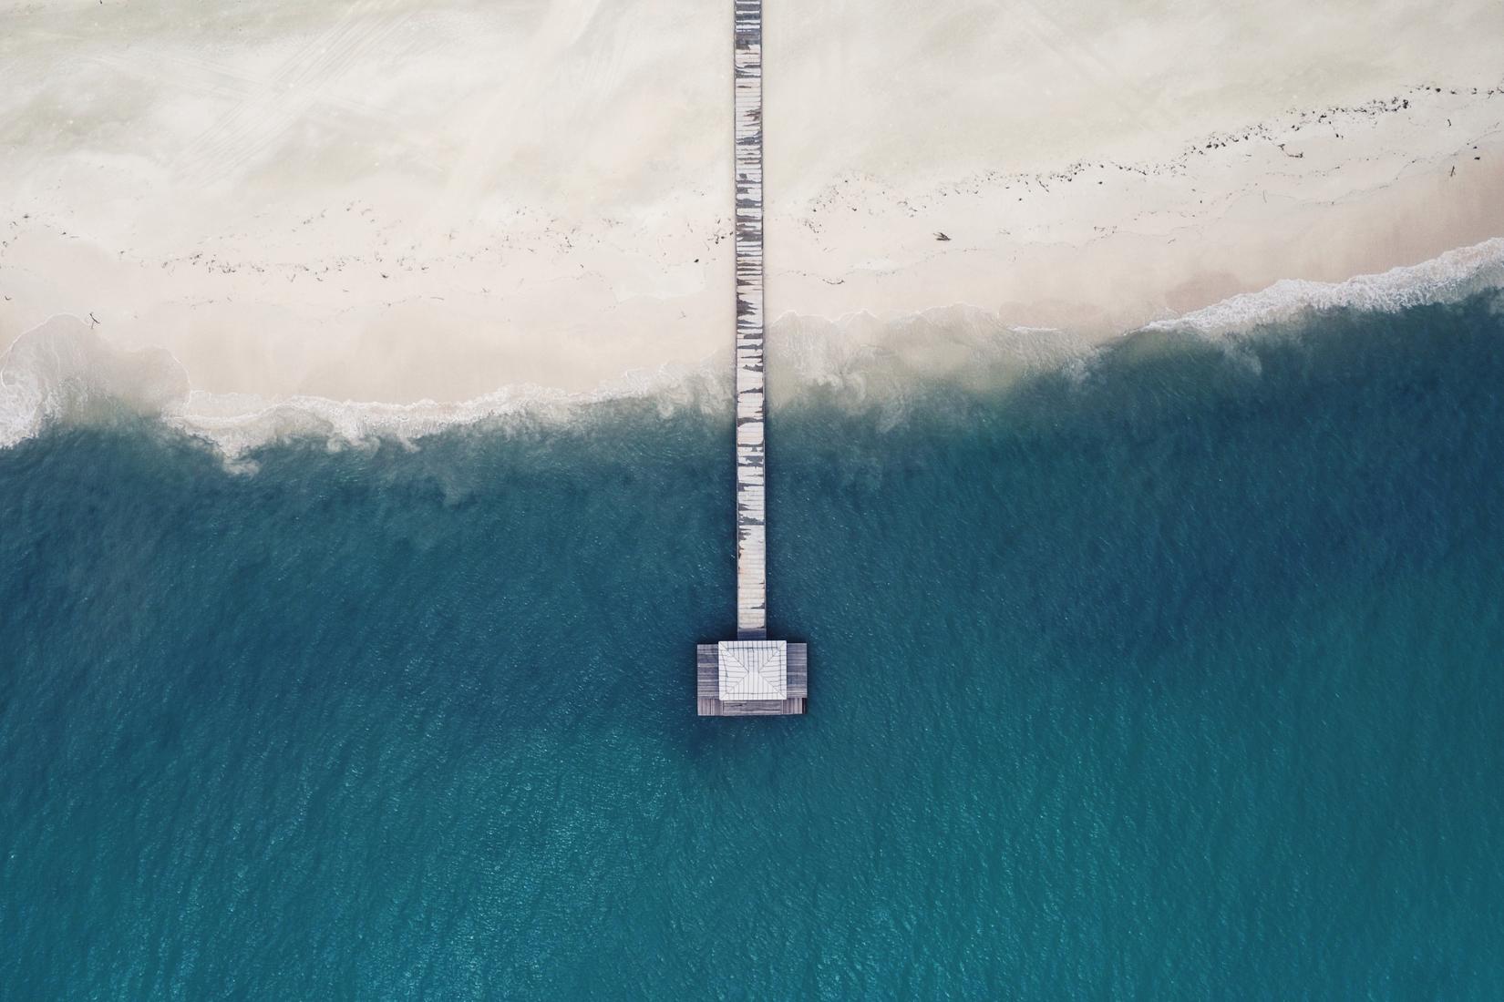
[(767, 638), (767, 398), (763, 370), (763, 0), (732, 0), (735, 134), (737, 638), (695, 647), (701, 717), (803, 714), (809, 655)]

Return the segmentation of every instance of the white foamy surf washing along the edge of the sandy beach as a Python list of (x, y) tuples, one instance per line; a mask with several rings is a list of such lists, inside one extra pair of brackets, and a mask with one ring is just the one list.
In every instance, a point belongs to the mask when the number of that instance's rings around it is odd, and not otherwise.
[[(1396, 311), (1456, 302), (1489, 288), (1504, 288), (1504, 239), (1345, 282), (1280, 281), (1148, 329), (1224, 337), (1287, 324), (1322, 309)], [(770, 326), (769, 343), (775, 404), (818, 389), (836, 401), (875, 407), (884, 424), (901, 419), (920, 380), (1005, 386), (1042, 368), (1080, 368), (1093, 350), (1071, 332), (1008, 326), (997, 314), (975, 306), (899, 317), (862, 312), (836, 320), (784, 314)], [(0, 356), (0, 448), (51, 422), (87, 422), (125, 410), (212, 442), (238, 463), (257, 446), (287, 439), (322, 439), (331, 448), (379, 440), (414, 445), (456, 427), (572, 421), (593, 406), (623, 400), (651, 398), (665, 415), (714, 410), (729, 400), (729, 377), (725, 352), (695, 367), (629, 373), (588, 394), (513, 385), (460, 403), (265, 400), (194, 391), (170, 353), (122, 352), (87, 323), (54, 317)]]

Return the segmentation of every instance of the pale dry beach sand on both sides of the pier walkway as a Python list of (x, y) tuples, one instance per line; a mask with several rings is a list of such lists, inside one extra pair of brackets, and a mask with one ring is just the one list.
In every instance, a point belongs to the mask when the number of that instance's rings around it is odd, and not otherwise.
[[(6, 3), (0, 349), (72, 314), (170, 352), (221, 416), (725, 350), (729, 20)], [(766, 0), (766, 23), (769, 309), (796, 326), (964, 303), (1101, 338), (1504, 234), (1496, 0)]]

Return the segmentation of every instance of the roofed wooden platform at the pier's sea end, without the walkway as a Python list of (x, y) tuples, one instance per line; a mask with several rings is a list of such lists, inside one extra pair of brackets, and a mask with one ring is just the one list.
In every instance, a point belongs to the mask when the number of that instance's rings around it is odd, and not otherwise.
[(809, 655), (785, 640), (722, 640), (695, 647), (695, 708), (701, 717), (803, 714)]

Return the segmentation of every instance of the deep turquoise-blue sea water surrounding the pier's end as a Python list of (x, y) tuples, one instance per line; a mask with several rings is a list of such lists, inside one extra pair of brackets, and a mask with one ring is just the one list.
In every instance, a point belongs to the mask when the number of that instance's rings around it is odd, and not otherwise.
[[(776, 361), (773, 379), (778, 379)], [(0, 994), (1504, 997), (1504, 315), (775, 413), (0, 452)]]

